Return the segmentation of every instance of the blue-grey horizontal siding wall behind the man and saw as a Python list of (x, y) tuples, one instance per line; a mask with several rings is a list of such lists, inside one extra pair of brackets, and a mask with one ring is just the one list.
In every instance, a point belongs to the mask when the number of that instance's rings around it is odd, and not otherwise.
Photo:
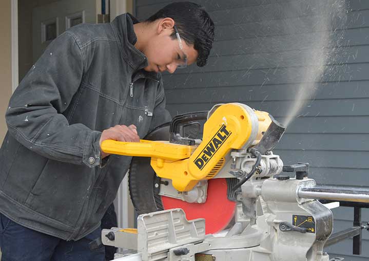
[[(170, 113), (242, 102), (283, 122), (301, 84), (301, 67), (314, 66), (301, 57), (314, 51), (312, 46), (319, 48), (314, 43), (324, 32), (304, 24), (322, 15), (308, 7), (322, 0), (192, 1), (210, 13), (216, 41), (206, 67), (164, 74)], [(135, 13), (144, 20), (171, 2), (137, 0)], [(301, 9), (285, 12), (292, 4)], [(347, 22), (330, 31), (338, 40), (344, 30), (344, 47), (335, 48), (338, 56), (326, 66), (315, 97), (288, 126), (275, 154), (285, 164), (309, 162), (310, 176), (320, 184), (369, 187), (369, 1), (348, 4)], [(353, 225), (352, 208), (333, 212), (334, 232)], [(362, 218), (369, 221), (368, 210), (362, 210)], [(361, 261), (369, 258), (368, 246), (369, 233), (363, 231), (361, 256), (352, 255), (352, 239), (326, 251), (331, 257)]]

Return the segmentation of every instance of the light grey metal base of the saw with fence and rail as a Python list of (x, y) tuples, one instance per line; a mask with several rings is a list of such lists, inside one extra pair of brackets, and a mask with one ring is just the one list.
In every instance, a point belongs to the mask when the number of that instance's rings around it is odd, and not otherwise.
[(104, 229), (103, 244), (137, 251), (116, 254), (114, 260), (121, 261), (343, 260), (323, 251), (333, 214), (317, 199), (368, 202), (369, 192), (318, 188), (307, 178), (308, 164), (283, 170), (296, 172), (296, 178), (253, 177), (242, 184), (230, 230), (205, 235), (204, 219), (187, 221), (183, 210), (171, 209), (140, 215), (137, 230)]

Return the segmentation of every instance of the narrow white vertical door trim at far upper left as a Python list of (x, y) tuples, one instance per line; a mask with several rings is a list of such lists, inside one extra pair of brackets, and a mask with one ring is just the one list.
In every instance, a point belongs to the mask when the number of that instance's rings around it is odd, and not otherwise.
[(11, 0), (11, 89), (19, 83), (18, 72), (18, 0)]

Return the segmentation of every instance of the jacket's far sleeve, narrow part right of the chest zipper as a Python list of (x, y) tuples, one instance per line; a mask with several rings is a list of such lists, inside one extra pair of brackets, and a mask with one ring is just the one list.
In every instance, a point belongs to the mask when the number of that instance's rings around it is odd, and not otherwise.
[(165, 94), (164, 94), (164, 87), (163, 81), (160, 79), (159, 87), (158, 87), (158, 95), (155, 101), (155, 107), (152, 113), (151, 124), (149, 127), (149, 132), (154, 128), (167, 123), (171, 122), (172, 117), (170, 116), (169, 111), (165, 108)]

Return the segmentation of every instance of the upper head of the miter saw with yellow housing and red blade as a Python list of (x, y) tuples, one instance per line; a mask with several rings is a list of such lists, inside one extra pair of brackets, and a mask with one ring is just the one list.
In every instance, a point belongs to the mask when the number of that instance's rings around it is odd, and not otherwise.
[[(206, 120), (202, 140), (196, 139), (200, 138), (199, 135), (192, 135), (193, 139), (183, 138), (180, 135), (183, 125), (196, 120)], [(188, 219), (205, 218), (206, 232), (215, 233), (232, 221), (236, 206), (235, 190), (232, 189), (238, 179), (249, 174), (257, 159), (247, 149), (259, 143), (272, 121), (273, 118), (264, 111), (253, 110), (244, 104), (216, 105), (210, 111), (174, 117), (170, 127), (154, 132), (163, 140), (169, 139), (167, 142), (110, 140), (104, 142), (102, 148), (112, 154), (151, 157), (153, 171), (142, 162), (149, 158), (133, 159), (130, 168), (131, 198), (139, 214), (182, 208)], [(196, 129), (196, 126), (187, 126), (191, 127)], [(165, 134), (158, 135), (158, 132)], [(279, 134), (282, 133), (283, 130)], [(240, 157), (240, 152), (234, 152), (232, 156), (234, 150), (242, 151), (247, 156)], [(245, 159), (243, 169), (241, 158)], [(282, 170), (279, 156), (270, 154), (267, 159), (263, 160), (263, 166), (268, 169), (261, 171), (259, 167), (258, 171), (254, 170), (260, 172), (257, 174), (260, 177), (267, 171), (274, 175)], [(271, 170), (266, 164), (272, 164)], [(152, 180), (154, 173), (158, 178)], [(160, 197), (156, 202), (152, 200), (151, 191)], [(151, 200), (142, 194), (150, 194)], [(146, 204), (151, 206), (146, 207)]]

